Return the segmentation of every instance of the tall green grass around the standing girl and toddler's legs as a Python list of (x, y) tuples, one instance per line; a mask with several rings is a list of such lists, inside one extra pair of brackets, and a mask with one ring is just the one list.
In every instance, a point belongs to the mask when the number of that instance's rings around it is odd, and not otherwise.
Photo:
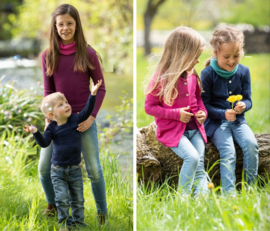
[[(30, 137), (30, 136), (29, 136)], [(57, 217), (42, 215), (46, 199), (38, 179), (38, 160), (29, 158), (33, 141), (20, 139), (14, 134), (0, 141), (0, 230), (58, 230)], [(85, 222), (84, 230), (132, 230), (133, 195), (130, 171), (123, 176), (117, 156), (108, 148), (100, 150), (103, 167), (109, 222), (103, 228), (96, 220), (96, 207), (88, 178), (84, 179)]]

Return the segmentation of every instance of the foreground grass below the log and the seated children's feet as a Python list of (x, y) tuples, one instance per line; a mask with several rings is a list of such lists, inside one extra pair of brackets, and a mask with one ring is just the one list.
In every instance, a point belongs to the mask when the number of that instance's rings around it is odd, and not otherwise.
[(183, 199), (164, 183), (137, 189), (137, 230), (269, 230), (270, 184), (236, 198)]

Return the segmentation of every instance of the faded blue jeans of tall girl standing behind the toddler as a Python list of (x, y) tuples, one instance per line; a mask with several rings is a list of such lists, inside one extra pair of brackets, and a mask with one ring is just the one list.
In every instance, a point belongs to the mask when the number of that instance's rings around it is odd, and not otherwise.
[[(107, 214), (106, 189), (102, 168), (99, 161), (99, 148), (97, 139), (96, 121), (92, 126), (81, 133), (82, 153), (88, 177), (91, 180), (93, 195), (96, 202), (97, 213)], [(55, 193), (51, 181), (52, 144), (47, 148), (41, 148), (38, 165), (39, 178), (46, 195), (48, 204), (55, 204)]]

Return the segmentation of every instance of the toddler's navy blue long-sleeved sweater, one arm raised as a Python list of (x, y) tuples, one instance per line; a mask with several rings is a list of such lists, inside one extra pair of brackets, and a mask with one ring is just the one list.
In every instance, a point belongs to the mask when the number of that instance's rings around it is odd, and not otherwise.
[(53, 121), (43, 135), (39, 131), (33, 133), (36, 142), (43, 148), (53, 140), (52, 164), (71, 166), (81, 162), (82, 141), (77, 127), (91, 115), (95, 102), (96, 96), (90, 95), (84, 109), (79, 114), (72, 114), (65, 124), (58, 126)]

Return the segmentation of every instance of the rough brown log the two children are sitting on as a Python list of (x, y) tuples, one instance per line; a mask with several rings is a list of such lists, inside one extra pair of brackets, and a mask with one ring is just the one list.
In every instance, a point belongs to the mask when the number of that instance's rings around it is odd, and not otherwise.
[[(266, 178), (270, 175), (270, 134), (255, 135), (259, 145), (259, 168), (258, 175)], [(235, 143), (236, 159), (236, 183), (242, 180), (243, 153)], [(205, 147), (205, 170), (210, 169), (220, 159), (219, 152), (214, 144), (208, 139)], [(178, 185), (178, 175), (183, 160), (170, 148), (161, 144), (156, 138), (156, 124), (151, 123), (147, 127), (140, 128), (137, 133), (137, 173), (139, 182), (146, 185), (149, 181), (162, 183), (170, 177), (170, 182)], [(220, 165), (216, 164), (209, 176), (215, 185), (220, 185)]]

